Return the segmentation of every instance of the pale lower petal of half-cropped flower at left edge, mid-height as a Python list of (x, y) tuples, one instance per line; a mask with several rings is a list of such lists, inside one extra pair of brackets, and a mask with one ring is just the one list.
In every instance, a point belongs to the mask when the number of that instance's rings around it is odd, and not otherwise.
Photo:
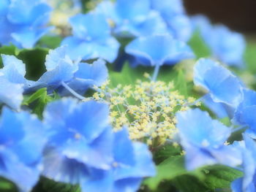
[(23, 101), (23, 85), (12, 83), (5, 77), (0, 77), (0, 101), (15, 110), (20, 109)]

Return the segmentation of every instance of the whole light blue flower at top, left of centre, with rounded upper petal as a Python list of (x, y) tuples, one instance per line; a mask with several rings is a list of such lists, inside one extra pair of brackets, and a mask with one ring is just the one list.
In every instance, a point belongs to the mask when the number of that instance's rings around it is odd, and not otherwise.
[(116, 59), (120, 45), (111, 37), (104, 15), (96, 12), (79, 14), (70, 18), (69, 22), (73, 36), (64, 38), (61, 45), (67, 45), (67, 53), (72, 60), (100, 57), (111, 63)]

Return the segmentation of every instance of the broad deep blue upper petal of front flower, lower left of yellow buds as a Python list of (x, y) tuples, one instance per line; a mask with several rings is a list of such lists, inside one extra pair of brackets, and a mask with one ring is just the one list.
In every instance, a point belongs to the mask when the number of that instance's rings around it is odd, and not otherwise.
[[(78, 104), (75, 99), (54, 101), (45, 109), (45, 121), (54, 130), (69, 129), (84, 137), (86, 142), (93, 142), (108, 127), (108, 105), (96, 101)], [(58, 135), (58, 132), (56, 132)], [(72, 139), (75, 139), (73, 137)], [(58, 143), (58, 141), (54, 141)]]

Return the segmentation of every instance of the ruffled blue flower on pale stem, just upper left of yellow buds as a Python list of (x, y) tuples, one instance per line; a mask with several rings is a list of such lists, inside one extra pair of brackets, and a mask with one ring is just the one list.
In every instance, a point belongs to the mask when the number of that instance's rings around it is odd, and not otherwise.
[(93, 85), (102, 85), (108, 78), (108, 69), (105, 61), (94, 61), (93, 64), (73, 62), (67, 55), (67, 47), (58, 47), (50, 50), (46, 56), (46, 72), (31, 85), (30, 90), (47, 87), (48, 91), (59, 91), (67, 94), (64, 84), (72, 91), (85, 93)]

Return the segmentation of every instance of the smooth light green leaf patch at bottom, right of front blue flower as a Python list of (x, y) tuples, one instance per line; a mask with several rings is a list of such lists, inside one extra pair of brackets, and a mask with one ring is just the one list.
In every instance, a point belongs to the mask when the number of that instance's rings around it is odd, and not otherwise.
[(144, 184), (151, 190), (156, 190), (159, 183), (163, 180), (172, 180), (178, 175), (186, 173), (187, 170), (184, 169), (183, 156), (172, 156), (159, 164), (157, 166), (157, 176), (146, 179)]

